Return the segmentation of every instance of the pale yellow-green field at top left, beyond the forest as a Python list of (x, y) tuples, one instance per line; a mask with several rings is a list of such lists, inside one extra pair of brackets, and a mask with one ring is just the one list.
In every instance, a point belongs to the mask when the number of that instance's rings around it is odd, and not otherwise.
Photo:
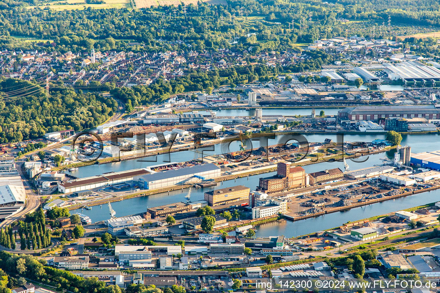
[[(103, 4), (85, 4), (84, 1), (81, 0), (65, 0), (65, 1), (52, 1), (47, 4), (39, 5), (40, 8), (43, 6), (48, 6), (51, 9), (56, 11), (62, 10), (74, 10), (74, 9), (87, 9), (87, 7), (93, 8), (101, 8), (101, 9), (109, 9), (109, 8), (123, 8), (123, 7), (131, 7), (130, 0), (105, 0)], [(32, 9), (35, 6), (29, 6), (27, 8)]]

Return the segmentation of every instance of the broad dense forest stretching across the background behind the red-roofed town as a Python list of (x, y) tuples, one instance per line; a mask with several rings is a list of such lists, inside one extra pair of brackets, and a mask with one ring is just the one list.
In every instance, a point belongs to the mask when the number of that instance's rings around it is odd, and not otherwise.
[[(381, 25), (388, 16), (393, 24), (440, 25), (440, 4), (415, 0), (229, 0), (227, 4), (189, 5), (187, 13), (177, 7), (145, 9), (94, 9), (55, 11), (37, 6), (34, 0), (0, 2), (0, 46), (44, 48), (47, 51), (110, 49), (125, 51), (216, 50), (236, 47), (253, 51), (293, 48), (320, 37), (344, 34), (338, 18), (367, 20)], [(242, 7), (242, 12), (240, 12)], [(242, 13), (242, 14), (241, 14)], [(245, 17), (241, 17), (243, 15)], [(257, 21), (246, 18), (257, 17)], [(255, 33), (255, 35), (250, 35)], [(11, 36), (34, 37), (39, 43), (22, 42)], [(390, 37), (384, 30), (378, 37)], [(236, 44), (230, 40), (240, 38)], [(183, 41), (176, 43), (176, 40)], [(134, 41), (137, 45), (129, 45)], [(191, 47), (189, 47), (191, 45)]]

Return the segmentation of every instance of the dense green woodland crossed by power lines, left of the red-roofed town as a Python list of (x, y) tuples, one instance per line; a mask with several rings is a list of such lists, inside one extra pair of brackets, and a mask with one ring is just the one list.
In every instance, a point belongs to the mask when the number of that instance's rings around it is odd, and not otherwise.
[(47, 98), (38, 83), (11, 78), (0, 81), (0, 97), (1, 143), (95, 127), (117, 110), (114, 99), (98, 93), (53, 87)]

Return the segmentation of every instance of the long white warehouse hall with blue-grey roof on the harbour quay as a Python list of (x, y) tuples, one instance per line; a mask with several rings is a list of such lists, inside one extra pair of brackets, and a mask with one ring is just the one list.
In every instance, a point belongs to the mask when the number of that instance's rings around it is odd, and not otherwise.
[(162, 188), (172, 185), (187, 184), (193, 181), (220, 177), (220, 167), (213, 163), (184, 167), (139, 176), (138, 181), (145, 189)]

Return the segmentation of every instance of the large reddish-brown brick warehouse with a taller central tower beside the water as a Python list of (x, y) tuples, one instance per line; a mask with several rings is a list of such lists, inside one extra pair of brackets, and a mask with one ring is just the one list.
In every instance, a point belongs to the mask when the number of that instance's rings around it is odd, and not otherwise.
[(259, 187), (262, 191), (270, 193), (307, 185), (305, 170), (302, 167), (291, 166), (290, 163), (278, 163), (277, 175), (260, 178)]

